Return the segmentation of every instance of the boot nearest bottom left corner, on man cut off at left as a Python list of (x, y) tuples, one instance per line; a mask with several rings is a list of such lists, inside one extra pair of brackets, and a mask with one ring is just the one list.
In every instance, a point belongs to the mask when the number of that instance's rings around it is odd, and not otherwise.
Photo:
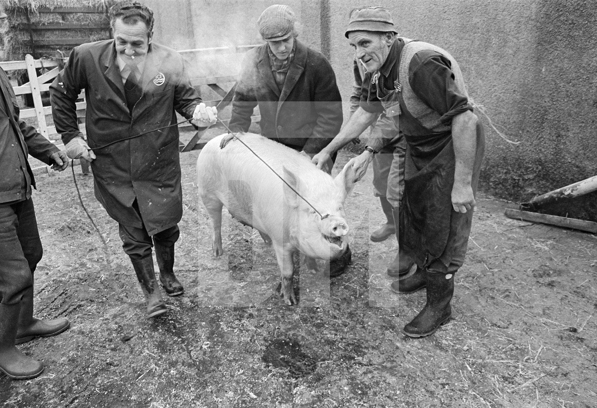
[(0, 303), (0, 370), (10, 378), (26, 379), (40, 375), (44, 366), (14, 346), (20, 311), (20, 302), (16, 305)]

